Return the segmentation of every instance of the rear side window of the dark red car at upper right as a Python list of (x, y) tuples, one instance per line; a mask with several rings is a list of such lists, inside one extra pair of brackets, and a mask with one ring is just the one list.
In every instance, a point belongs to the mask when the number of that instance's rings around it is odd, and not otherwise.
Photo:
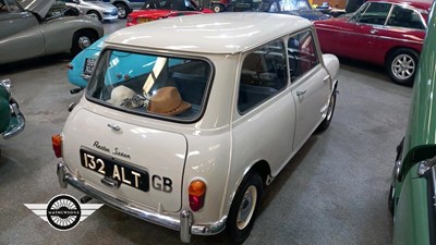
[(387, 25), (405, 28), (425, 29), (425, 25), (421, 20), (421, 14), (411, 9), (396, 5), (388, 20)]

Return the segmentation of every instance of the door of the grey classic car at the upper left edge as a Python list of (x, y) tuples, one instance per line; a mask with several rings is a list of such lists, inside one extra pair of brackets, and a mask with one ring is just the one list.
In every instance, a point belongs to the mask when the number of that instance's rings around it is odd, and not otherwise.
[(44, 54), (45, 38), (35, 15), (14, 0), (0, 0), (0, 63)]

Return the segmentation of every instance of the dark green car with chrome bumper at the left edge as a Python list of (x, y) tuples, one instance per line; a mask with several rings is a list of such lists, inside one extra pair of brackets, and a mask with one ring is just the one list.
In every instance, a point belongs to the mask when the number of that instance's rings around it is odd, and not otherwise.
[(11, 81), (0, 81), (0, 134), (5, 139), (10, 138), (22, 132), (24, 125), (24, 115), (11, 95)]

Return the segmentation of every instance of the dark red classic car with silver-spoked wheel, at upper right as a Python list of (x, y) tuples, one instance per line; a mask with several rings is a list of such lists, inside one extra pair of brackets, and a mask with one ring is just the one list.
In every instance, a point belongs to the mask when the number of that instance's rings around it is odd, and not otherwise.
[(370, 0), (356, 12), (316, 21), (323, 52), (385, 65), (412, 85), (433, 0)]

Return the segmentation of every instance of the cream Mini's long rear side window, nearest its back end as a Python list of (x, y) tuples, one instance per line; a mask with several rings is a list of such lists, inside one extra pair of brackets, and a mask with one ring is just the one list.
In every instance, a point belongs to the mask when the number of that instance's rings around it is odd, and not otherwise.
[(247, 53), (241, 70), (238, 110), (243, 113), (278, 94), (287, 86), (284, 45), (267, 44)]

